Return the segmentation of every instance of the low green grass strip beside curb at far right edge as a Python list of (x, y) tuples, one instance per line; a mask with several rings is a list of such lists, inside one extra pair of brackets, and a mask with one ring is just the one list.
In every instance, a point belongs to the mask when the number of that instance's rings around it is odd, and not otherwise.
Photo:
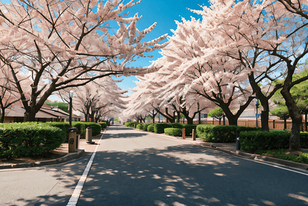
[(294, 161), (298, 163), (306, 163), (308, 164), (308, 153), (300, 153), (300, 155), (283, 155), (283, 153), (287, 152), (287, 149), (280, 150), (257, 150), (254, 154), (257, 155), (265, 155), (267, 157), (276, 157), (278, 159), (285, 159), (288, 161)]

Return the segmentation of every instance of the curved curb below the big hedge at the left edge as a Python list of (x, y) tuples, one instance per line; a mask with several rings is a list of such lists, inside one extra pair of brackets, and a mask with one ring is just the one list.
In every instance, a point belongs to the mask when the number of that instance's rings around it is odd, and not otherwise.
[(5, 165), (0, 165), (0, 170), (17, 169), (17, 168), (34, 168), (46, 165), (55, 165), (55, 164), (65, 163), (67, 161), (72, 161), (74, 159), (78, 159), (80, 157), (83, 157), (83, 154), (85, 154), (85, 150), (78, 150), (77, 152), (74, 153), (67, 153), (65, 156), (59, 157), (57, 159), (50, 159), (45, 161), (33, 161), (29, 163), (5, 164)]

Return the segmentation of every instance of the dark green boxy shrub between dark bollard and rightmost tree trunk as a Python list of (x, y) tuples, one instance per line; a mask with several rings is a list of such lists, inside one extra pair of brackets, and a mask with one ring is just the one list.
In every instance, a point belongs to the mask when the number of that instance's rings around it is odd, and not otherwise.
[(241, 150), (271, 150), (289, 147), (289, 137), (291, 133), (287, 131), (270, 130), (265, 131), (247, 131), (239, 135), (241, 141)]

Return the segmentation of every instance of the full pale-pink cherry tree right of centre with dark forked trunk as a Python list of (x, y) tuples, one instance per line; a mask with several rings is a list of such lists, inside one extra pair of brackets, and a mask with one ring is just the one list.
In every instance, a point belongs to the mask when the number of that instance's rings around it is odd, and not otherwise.
[[(167, 82), (157, 92), (164, 99), (188, 93), (202, 96), (223, 108), (229, 124), (237, 124), (237, 119), (250, 104), (252, 89), (247, 82), (247, 71), (238, 60), (219, 56), (217, 47), (223, 36), (212, 34), (209, 22), (182, 20), (177, 22), (177, 30), (169, 38), (169, 44), (162, 49), (163, 57), (153, 62), (164, 74), (161, 81)], [(234, 104), (240, 104), (237, 111)]]

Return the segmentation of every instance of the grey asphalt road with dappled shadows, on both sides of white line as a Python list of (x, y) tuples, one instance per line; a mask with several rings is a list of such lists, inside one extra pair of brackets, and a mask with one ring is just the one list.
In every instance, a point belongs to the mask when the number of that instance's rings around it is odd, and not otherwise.
[[(87, 161), (0, 171), (0, 205), (66, 205)], [(80, 205), (308, 205), (308, 176), (111, 126)]]

